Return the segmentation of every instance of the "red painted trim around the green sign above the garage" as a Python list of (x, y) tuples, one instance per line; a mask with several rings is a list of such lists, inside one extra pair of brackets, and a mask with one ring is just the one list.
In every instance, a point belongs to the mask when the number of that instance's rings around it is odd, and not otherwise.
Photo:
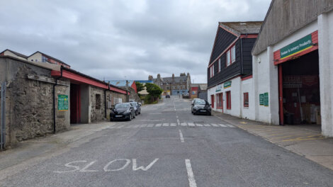
[(314, 45), (311, 48), (309, 48), (307, 50), (304, 50), (303, 52), (297, 53), (297, 54), (292, 55), (292, 56), (290, 56), (288, 58), (285, 58), (283, 60), (281, 60), (280, 50), (277, 50), (277, 51), (273, 52), (274, 65), (278, 65), (278, 64), (281, 64), (283, 62), (287, 62), (289, 60), (293, 60), (296, 57), (300, 57), (300, 56), (303, 56), (303, 55), (305, 55), (305, 54), (307, 54), (309, 52), (318, 50), (318, 30), (315, 31), (315, 32), (313, 32), (313, 33), (311, 33), (311, 36), (312, 36), (312, 43), (316, 43), (317, 45)]

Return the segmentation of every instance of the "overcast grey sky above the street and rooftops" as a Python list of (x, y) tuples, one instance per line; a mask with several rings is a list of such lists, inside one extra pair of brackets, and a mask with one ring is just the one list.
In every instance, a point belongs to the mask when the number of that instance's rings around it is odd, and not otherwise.
[(0, 51), (35, 51), (98, 79), (189, 72), (206, 82), (218, 21), (262, 21), (270, 0), (0, 0)]

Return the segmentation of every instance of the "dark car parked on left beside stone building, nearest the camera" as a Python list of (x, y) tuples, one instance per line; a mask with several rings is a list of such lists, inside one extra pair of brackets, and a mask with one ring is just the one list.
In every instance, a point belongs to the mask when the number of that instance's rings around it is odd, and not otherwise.
[(118, 103), (111, 109), (110, 120), (132, 120), (135, 118), (135, 109), (132, 103)]

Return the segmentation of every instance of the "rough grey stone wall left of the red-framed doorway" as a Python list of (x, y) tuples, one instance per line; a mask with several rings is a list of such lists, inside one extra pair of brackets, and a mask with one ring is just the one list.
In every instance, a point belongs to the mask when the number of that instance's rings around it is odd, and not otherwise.
[[(5, 71), (5, 72), (3, 72)], [(50, 76), (51, 70), (33, 64), (0, 58), (0, 82), (8, 82), (6, 91), (7, 145), (53, 132), (53, 84), (28, 79), (28, 74)], [(69, 86), (56, 86), (57, 94), (69, 95)], [(57, 105), (56, 105), (57, 106)], [(57, 130), (67, 130), (69, 111), (57, 111)]]

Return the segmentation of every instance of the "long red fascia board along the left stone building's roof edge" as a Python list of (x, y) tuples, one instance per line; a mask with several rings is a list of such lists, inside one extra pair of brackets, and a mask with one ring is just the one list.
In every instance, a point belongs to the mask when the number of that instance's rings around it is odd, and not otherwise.
[[(53, 77), (60, 77), (61, 72), (52, 70), (51, 75)], [(99, 88), (102, 88), (102, 89), (108, 89), (108, 84), (103, 84), (101, 82), (89, 79), (87, 77), (83, 77), (79, 74), (74, 74), (73, 72), (68, 72), (66, 70), (62, 70), (62, 77), (66, 78), (66, 79), (77, 81), (77, 82), (82, 83), (82, 84), (89, 84), (89, 85), (96, 86), (96, 87), (99, 87)], [(113, 86), (110, 86), (110, 90), (111, 91), (116, 91), (120, 94), (126, 94), (125, 90), (118, 89), (118, 88), (115, 88)]]

